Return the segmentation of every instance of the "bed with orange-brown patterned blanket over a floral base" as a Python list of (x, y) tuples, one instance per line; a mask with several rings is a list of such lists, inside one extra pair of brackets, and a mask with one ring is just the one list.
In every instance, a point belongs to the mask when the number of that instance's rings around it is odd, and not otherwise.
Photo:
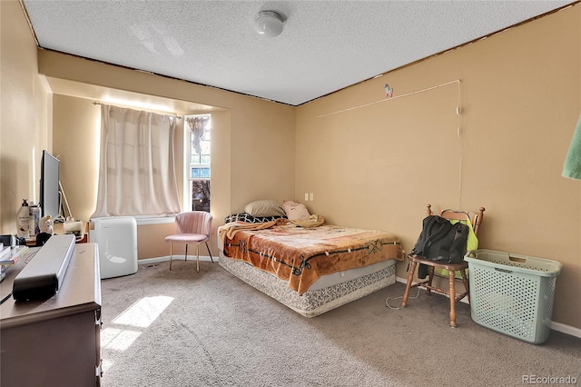
[(405, 257), (399, 237), (379, 230), (247, 213), (225, 221), (218, 229), (222, 268), (305, 317), (395, 283), (395, 263)]

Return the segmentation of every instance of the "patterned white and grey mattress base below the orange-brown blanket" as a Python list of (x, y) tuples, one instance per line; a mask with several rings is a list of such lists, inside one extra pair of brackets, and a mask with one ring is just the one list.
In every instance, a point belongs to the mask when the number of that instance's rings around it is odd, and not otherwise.
[(396, 260), (390, 259), (364, 268), (322, 275), (307, 292), (299, 295), (275, 275), (258, 270), (250, 263), (231, 259), (222, 250), (219, 263), (241, 281), (305, 317), (329, 312), (396, 282)]

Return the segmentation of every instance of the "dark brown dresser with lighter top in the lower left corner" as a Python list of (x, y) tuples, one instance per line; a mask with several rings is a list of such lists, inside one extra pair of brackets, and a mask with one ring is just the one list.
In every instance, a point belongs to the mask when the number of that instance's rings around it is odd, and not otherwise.
[[(6, 271), (2, 299), (32, 253)], [(10, 296), (0, 305), (2, 387), (101, 384), (100, 278), (96, 244), (75, 244), (58, 293), (45, 301), (15, 302)]]

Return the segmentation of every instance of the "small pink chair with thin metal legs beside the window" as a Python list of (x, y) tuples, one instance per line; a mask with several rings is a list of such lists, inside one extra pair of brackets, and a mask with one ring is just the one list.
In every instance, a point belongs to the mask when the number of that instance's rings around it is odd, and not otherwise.
[(196, 270), (200, 272), (200, 243), (206, 243), (206, 248), (210, 254), (212, 263), (212, 253), (208, 240), (212, 233), (212, 213), (205, 211), (190, 211), (178, 213), (175, 215), (175, 223), (178, 227), (178, 233), (165, 237), (165, 243), (170, 244), (170, 270), (172, 270), (173, 243), (185, 244), (185, 260), (188, 260), (188, 244), (196, 245)]

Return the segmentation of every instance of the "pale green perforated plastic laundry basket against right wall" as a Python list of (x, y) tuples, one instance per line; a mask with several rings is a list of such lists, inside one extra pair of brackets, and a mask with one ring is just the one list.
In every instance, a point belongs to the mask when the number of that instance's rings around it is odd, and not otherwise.
[(547, 341), (561, 263), (492, 250), (464, 259), (475, 323), (525, 342)]

